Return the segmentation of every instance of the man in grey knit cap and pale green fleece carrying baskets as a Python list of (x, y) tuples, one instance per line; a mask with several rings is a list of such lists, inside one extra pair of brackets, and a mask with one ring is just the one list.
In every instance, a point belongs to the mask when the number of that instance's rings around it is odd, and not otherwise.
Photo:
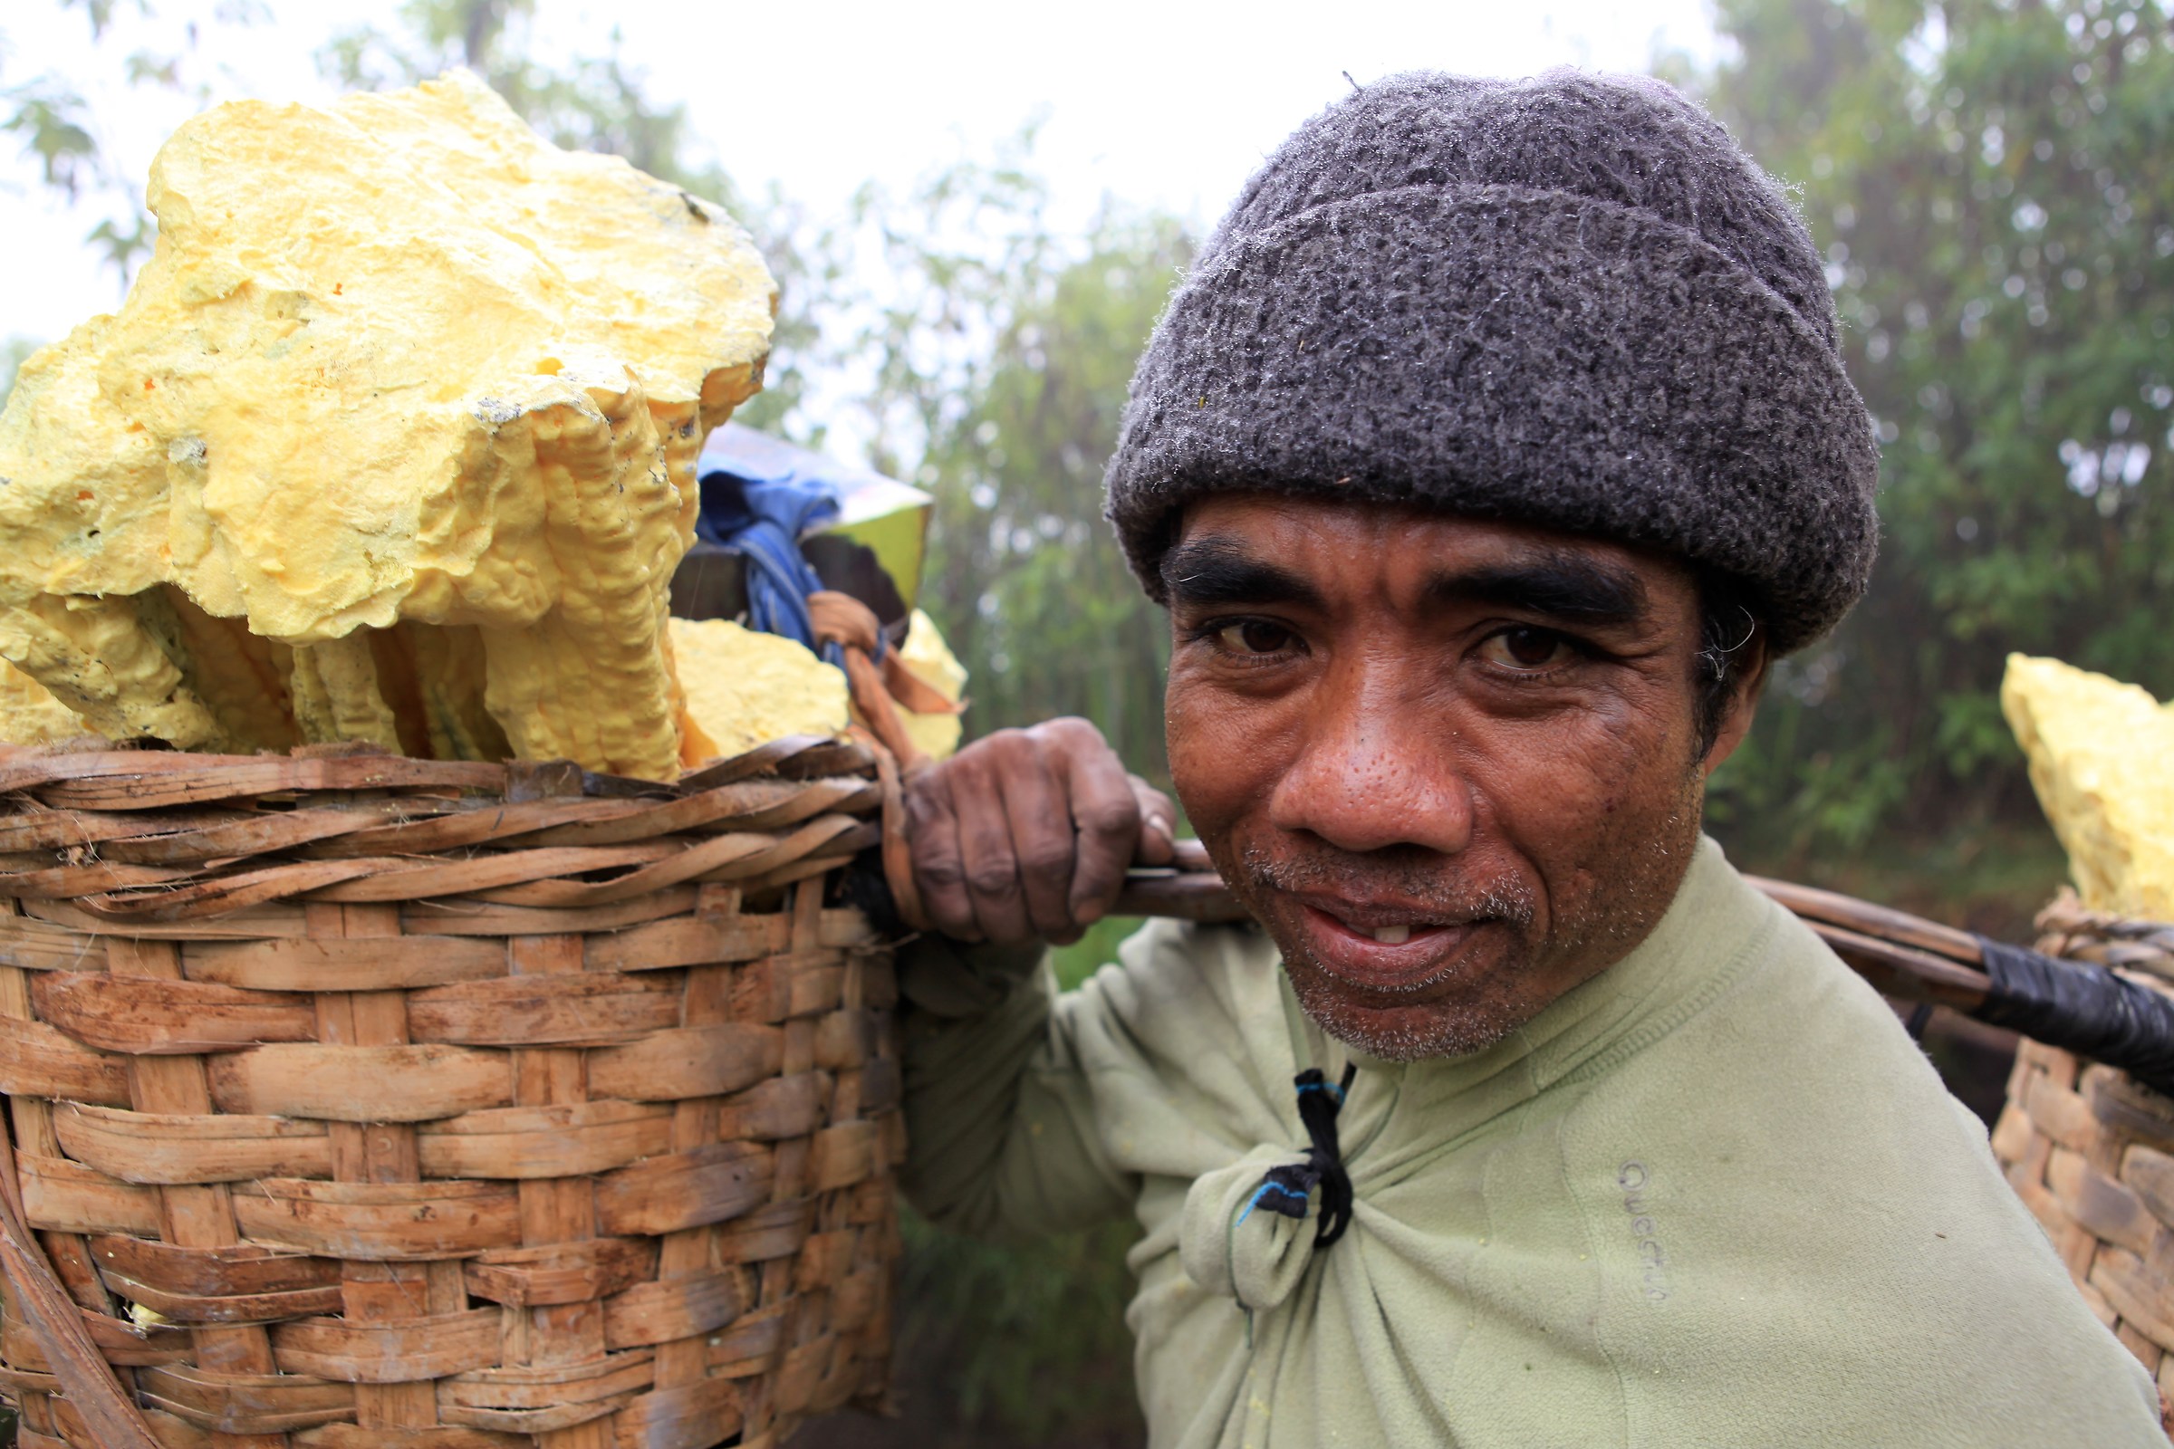
[(1154, 1445), (2165, 1442), (1976, 1121), (1700, 839), (1874, 474), (1811, 239), (1663, 85), (1394, 78), (1239, 196), (1109, 517), (1259, 930), (1057, 999), (1170, 804), (1078, 721), (911, 799), (909, 1190), (1137, 1214)]

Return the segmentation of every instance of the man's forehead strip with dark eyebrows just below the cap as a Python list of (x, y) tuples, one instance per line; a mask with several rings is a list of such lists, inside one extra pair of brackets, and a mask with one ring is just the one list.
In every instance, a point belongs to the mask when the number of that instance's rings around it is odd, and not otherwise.
[(1644, 619), (1654, 571), (1683, 569), (1552, 528), (1287, 497), (1204, 500), (1161, 560), (1170, 604), (1187, 613), (1326, 610), (1378, 589), (1415, 606), (1496, 604), (1587, 626)]

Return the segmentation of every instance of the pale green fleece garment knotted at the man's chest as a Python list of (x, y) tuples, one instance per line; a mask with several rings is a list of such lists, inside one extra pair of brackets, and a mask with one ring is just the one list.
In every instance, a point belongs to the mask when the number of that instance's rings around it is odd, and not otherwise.
[[(1254, 928), (1159, 921), (1080, 991), (907, 952), (907, 1190), (1133, 1212), (1157, 1449), (2165, 1445), (1894, 1012), (1711, 841), (1652, 936), (1487, 1051), (1352, 1058)], [(1248, 1204), (1359, 1067), (1350, 1232)]]

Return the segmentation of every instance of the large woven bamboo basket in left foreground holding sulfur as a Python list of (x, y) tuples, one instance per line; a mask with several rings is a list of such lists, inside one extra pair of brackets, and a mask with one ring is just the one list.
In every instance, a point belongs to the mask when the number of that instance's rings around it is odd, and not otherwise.
[[(0, 752), (24, 1449), (776, 1445), (885, 1390), (887, 756)], [(737, 1438), (735, 1438), (737, 1436)]]

